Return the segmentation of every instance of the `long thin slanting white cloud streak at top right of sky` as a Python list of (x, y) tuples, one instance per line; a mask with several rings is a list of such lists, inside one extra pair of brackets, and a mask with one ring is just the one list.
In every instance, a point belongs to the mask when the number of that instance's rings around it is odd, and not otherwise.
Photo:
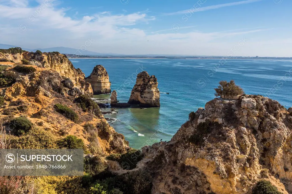
[[(211, 9), (219, 9), (222, 7), (229, 7), (229, 6), (236, 6), (236, 5), (242, 5), (242, 4), (247, 4), (247, 3), (254, 3), (257, 1), (263, 1), (263, 0), (237, 1), (237, 2), (233, 2), (233, 3), (224, 3), (224, 4), (219, 4), (219, 5), (200, 7), (198, 9), (193, 10), (192, 12), (207, 11), (207, 10), (211, 10)], [(181, 11), (172, 12), (172, 13), (166, 13), (166, 15), (185, 14), (185, 13), (189, 13), (189, 12), (190, 12), (190, 9), (187, 9), (187, 10), (181, 10)]]

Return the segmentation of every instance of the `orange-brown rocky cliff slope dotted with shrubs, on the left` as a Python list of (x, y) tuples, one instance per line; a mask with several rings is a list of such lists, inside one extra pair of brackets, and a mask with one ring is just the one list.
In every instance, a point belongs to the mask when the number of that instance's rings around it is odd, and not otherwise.
[[(50, 58), (50, 60), (58, 59)], [(61, 69), (56, 63), (54, 64), (55, 69)], [(64, 63), (59, 65), (65, 66)], [(74, 76), (73, 74), (67, 77), (63, 74), (64, 72), (59, 73), (49, 67), (23, 65), (21, 68), (16, 68), (16, 66), (9, 62), (7, 62), (7, 65), (0, 66), (0, 94), (1, 100), (3, 100), (0, 106), (0, 117), (3, 119), (7, 130), (10, 130), (9, 122), (12, 118), (22, 116), (31, 121), (37, 131), (46, 131), (46, 133), (51, 134), (50, 136), (53, 136), (52, 141), (64, 138), (67, 135), (75, 135), (81, 138), (86, 145), (86, 149), (92, 154), (124, 153), (129, 149), (124, 136), (116, 133), (107, 124), (98, 105), (91, 98), (84, 97), (92, 95), (90, 84), (84, 80), (84, 77), (83, 80), (82, 77), (79, 77), (77, 81), (79, 84), (82, 81), (89, 87), (74, 83), (69, 78)], [(28, 72), (28, 70), (30, 71)], [(75, 70), (74, 68), (71, 70), (72, 72), (76, 71), (77, 76), (83, 75), (81, 70)], [(6, 78), (12, 80), (8, 85), (5, 83)], [(81, 100), (78, 98), (80, 96), (82, 97)], [(68, 116), (60, 114), (55, 107), (57, 104), (71, 111), (70, 115), (77, 119), (72, 120)], [(14, 140), (13, 146), (18, 146), (16, 148), (47, 148), (48, 145), (45, 142), (33, 140), (34, 134), (30, 134), (29, 138), (30, 136), (32, 139), (29, 141), (31, 142)], [(41, 136), (39, 138), (43, 138)], [(15, 139), (16, 137), (12, 138)], [(26, 137), (19, 137), (19, 140), (21, 141), (22, 138)], [(52, 145), (54, 144), (52, 143)]]

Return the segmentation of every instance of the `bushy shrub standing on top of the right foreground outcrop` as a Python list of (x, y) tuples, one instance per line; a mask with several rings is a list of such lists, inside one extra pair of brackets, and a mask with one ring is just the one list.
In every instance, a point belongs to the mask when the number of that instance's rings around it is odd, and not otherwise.
[(230, 82), (220, 81), (218, 88), (215, 88), (215, 96), (238, 96), (243, 95), (244, 91), (241, 87), (237, 86), (234, 80)]

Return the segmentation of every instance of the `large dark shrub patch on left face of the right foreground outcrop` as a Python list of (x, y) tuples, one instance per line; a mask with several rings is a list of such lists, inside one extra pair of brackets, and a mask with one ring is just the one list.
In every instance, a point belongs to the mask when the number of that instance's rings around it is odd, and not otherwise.
[(209, 120), (199, 123), (197, 126), (197, 131), (190, 136), (189, 141), (196, 145), (202, 145), (204, 142), (204, 137), (207, 137), (207, 135), (213, 130), (220, 129), (221, 127), (222, 125), (218, 122), (211, 122)]

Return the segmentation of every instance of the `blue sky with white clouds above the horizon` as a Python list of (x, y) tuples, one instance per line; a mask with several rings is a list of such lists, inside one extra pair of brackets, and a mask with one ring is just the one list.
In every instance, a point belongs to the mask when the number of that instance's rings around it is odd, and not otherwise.
[(0, 0), (0, 43), (102, 53), (292, 57), (291, 0)]

